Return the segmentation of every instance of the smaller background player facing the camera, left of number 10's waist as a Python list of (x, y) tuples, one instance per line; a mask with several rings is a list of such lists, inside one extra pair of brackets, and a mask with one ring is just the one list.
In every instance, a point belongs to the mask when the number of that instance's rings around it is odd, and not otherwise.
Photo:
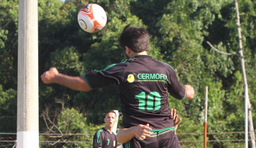
[(105, 127), (98, 130), (93, 136), (93, 148), (121, 148), (117, 146), (116, 135), (112, 132), (116, 123), (116, 113), (114, 110), (107, 111), (104, 118)]

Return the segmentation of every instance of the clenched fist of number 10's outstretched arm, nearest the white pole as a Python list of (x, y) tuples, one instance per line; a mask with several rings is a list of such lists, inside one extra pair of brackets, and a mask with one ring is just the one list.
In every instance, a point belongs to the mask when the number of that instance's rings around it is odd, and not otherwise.
[(52, 84), (55, 82), (55, 77), (58, 74), (59, 71), (55, 67), (52, 67), (49, 69), (49, 71), (46, 71), (43, 73), (43, 75), (41, 75), (41, 79), (44, 82), (44, 84)]

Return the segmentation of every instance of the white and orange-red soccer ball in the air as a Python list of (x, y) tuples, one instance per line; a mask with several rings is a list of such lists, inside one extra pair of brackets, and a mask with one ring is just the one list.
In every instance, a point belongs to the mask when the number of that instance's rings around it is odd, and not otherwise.
[(103, 7), (96, 3), (84, 5), (78, 12), (78, 24), (88, 33), (96, 33), (104, 28), (107, 14)]

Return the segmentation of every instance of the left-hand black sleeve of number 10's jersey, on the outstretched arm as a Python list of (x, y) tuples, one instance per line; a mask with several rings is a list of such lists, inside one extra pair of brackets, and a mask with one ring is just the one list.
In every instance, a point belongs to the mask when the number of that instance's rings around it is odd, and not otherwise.
[(123, 64), (111, 64), (100, 71), (91, 70), (84, 74), (84, 79), (90, 88), (101, 88), (110, 84), (120, 84), (123, 81)]

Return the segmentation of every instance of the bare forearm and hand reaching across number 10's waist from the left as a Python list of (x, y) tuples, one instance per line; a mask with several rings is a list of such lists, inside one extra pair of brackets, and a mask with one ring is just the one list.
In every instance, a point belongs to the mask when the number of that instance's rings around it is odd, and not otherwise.
[(134, 136), (145, 139), (146, 137), (150, 137), (152, 134), (152, 132), (148, 130), (152, 130), (152, 128), (149, 127), (149, 124), (140, 124), (139, 126), (134, 126), (132, 128), (122, 128), (116, 135), (116, 138), (118, 143), (127, 143)]

